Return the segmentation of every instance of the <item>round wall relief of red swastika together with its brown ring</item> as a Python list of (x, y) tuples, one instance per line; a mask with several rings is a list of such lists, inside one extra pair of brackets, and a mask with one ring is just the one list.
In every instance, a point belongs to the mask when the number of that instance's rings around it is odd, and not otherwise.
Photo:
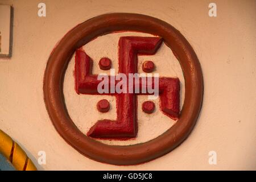
[[(90, 69), (92, 61), (81, 47), (98, 36), (118, 31), (137, 31), (155, 35), (154, 38), (120, 38), (119, 72), (136, 73), (137, 54), (152, 55), (157, 51), (158, 46), (164, 42), (179, 60), (185, 78), (185, 100), (181, 111), (179, 111), (179, 104), (177, 104), (179, 101), (179, 79), (159, 78), (159, 90), (161, 90), (161, 85), (163, 86), (159, 95), (160, 99), (163, 98), (160, 108), (170, 118), (177, 119), (175, 125), (155, 139), (130, 146), (110, 146), (93, 138), (125, 139), (136, 137), (138, 106), (134, 94), (124, 93), (122, 96), (117, 96), (118, 103), (121, 103), (117, 106), (117, 112), (120, 111), (118, 117), (123, 117), (123, 119), (119, 118), (116, 122), (99, 121), (96, 126), (90, 129), (87, 136), (74, 125), (63, 98), (62, 85), (65, 68), (74, 52), (76, 53), (76, 92), (99, 94), (97, 91), (99, 82), (95, 79), (96, 76), (92, 75)], [(147, 65), (144, 65), (144, 68), (146, 67)], [(153, 68), (154, 65), (151, 64), (150, 69), (145, 70), (151, 72)], [(165, 82), (166, 86), (170, 86), (170, 88), (164, 87)], [(115, 165), (133, 165), (148, 162), (167, 154), (188, 137), (201, 109), (203, 75), (199, 60), (192, 47), (184, 36), (170, 24), (142, 14), (113, 13), (86, 20), (60, 40), (48, 59), (44, 74), (43, 92), (49, 117), (57, 132), (67, 143), (90, 159)], [(104, 107), (105, 105), (108, 106), (108, 102), (104, 104)], [(155, 109), (155, 105), (151, 102), (144, 103), (143, 106), (139, 107), (143, 107), (143, 110), (148, 114)]]

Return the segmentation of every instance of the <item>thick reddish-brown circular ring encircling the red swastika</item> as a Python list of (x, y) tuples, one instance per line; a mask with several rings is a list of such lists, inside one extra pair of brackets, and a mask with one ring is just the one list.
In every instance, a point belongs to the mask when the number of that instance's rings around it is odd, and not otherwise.
[[(69, 117), (63, 94), (65, 70), (75, 50), (97, 36), (116, 31), (138, 31), (162, 37), (179, 60), (185, 79), (185, 99), (179, 121), (159, 137), (130, 146), (109, 146), (86, 137)], [(203, 75), (192, 47), (170, 24), (147, 15), (113, 13), (86, 20), (60, 40), (48, 59), (43, 92), (55, 129), (72, 147), (99, 162), (131, 165), (167, 154), (188, 137), (201, 109)]]

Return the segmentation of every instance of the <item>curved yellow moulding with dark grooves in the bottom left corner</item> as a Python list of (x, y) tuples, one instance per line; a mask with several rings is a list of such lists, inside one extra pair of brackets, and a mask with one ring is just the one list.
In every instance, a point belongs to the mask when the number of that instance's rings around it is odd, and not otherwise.
[(0, 130), (0, 153), (9, 159), (18, 171), (37, 170), (22, 148), (2, 130)]

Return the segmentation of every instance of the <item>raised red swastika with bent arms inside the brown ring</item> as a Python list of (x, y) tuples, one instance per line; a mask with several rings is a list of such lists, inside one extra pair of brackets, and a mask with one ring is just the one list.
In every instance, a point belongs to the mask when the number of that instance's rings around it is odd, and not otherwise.
[[(124, 36), (119, 38), (118, 49), (118, 73), (124, 73), (127, 77), (129, 73), (138, 72), (138, 55), (154, 55), (162, 44), (162, 38)], [(75, 58), (75, 81), (76, 92), (81, 94), (100, 94), (97, 86), (101, 82), (97, 80), (98, 75), (92, 74), (92, 59), (86, 55), (82, 49), (76, 50)], [(109, 76), (111, 77), (111, 76)], [(115, 81), (115, 85), (119, 81)], [(121, 138), (129, 139), (137, 135), (137, 95), (145, 94), (141, 88), (154, 85), (154, 78), (151, 83), (143, 84), (141, 78), (139, 83), (139, 93), (110, 93), (115, 96), (117, 103), (117, 119), (111, 121), (103, 119), (90, 128), (87, 135), (93, 138)], [(138, 84), (138, 85), (136, 85)], [(111, 88), (112, 85), (109, 85)], [(179, 78), (159, 77), (159, 99), (160, 110), (168, 117), (177, 119), (179, 117)], [(149, 93), (146, 93), (149, 94)]]

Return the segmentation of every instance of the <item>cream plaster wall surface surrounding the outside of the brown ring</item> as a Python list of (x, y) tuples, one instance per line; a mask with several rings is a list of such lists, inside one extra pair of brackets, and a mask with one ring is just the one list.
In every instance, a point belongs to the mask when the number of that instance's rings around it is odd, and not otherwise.
[[(256, 1), (8, 1), (14, 6), (13, 57), (0, 59), (0, 129), (12, 136), (39, 169), (256, 169)], [(204, 100), (195, 129), (162, 158), (138, 166), (113, 166), (85, 158), (57, 134), (43, 101), (44, 68), (55, 44), (93, 16), (141, 13), (172, 24), (188, 39), (204, 76)], [(161, 127), (161, 125), (159, 125)], [(209, 165), (208, 152), (217, 152)]]

